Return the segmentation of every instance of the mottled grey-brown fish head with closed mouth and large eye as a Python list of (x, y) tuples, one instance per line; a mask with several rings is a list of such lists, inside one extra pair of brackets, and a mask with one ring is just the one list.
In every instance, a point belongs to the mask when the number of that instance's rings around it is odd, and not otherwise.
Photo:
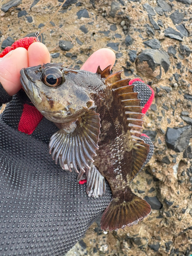
[(78, 82), (78, 70), (47, 63), (22, 69), (20, 75), (31, 102), (52, 122), (71, 122), (94, 108), (91, 92), (83, 87), (82, 79)]

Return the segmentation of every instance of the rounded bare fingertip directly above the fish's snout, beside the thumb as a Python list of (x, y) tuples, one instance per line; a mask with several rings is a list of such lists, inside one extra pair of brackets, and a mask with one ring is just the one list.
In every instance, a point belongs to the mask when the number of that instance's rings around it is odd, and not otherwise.
[(51, 62), (50, 53), (42, 42), (34, 42), (28, 48), (29, 67)]

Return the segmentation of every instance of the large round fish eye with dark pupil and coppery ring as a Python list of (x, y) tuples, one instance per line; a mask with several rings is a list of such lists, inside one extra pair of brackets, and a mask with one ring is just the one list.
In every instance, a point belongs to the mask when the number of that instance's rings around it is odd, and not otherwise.
[(58, 87), (66, 81), (63, 73), (57, 68), (48, 68), (42, 72), (41, 81), (48, 87)]

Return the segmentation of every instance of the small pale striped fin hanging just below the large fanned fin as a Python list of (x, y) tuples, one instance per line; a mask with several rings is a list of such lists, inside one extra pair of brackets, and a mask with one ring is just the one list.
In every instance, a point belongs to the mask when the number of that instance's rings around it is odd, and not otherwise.
[(104, 195), (106, 184), (104, 177), (99, 173), (98, 169), (92, 164), (88, 170), (87, 189), (86, 192), (89, 197), (98, 198)]

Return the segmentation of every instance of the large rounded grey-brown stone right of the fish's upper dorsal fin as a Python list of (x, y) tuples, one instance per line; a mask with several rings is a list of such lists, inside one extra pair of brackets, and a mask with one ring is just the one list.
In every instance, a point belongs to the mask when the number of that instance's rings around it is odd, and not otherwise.
[(169, 56), (166, 52), (160, 50), (146, 49), (142, 51), (136, 59), (136, 69), (142, 75), (147, 77), (161, 78), (161, 68), (165, 73), (170, 66)]

